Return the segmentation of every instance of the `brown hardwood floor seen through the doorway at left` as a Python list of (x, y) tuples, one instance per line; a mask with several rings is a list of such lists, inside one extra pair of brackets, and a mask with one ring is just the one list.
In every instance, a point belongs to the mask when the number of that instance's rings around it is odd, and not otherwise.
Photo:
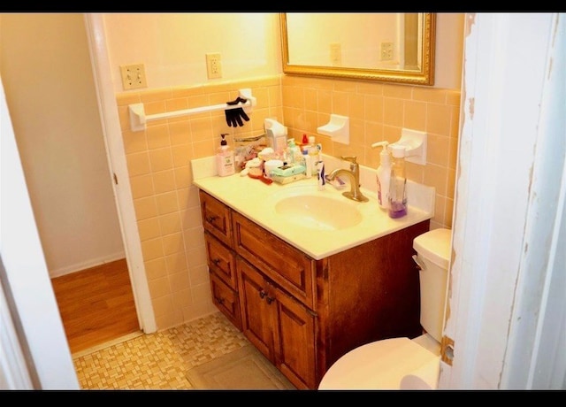
[(71, 353), (140, 330), (126, 259), (51, 279)]

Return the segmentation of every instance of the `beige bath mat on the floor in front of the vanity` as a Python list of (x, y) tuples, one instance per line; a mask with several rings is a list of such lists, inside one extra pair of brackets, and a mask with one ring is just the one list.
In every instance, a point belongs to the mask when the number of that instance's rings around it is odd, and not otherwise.
[(296, 390), (259, 350), (244, 346), (187, 372), (198, 390)]

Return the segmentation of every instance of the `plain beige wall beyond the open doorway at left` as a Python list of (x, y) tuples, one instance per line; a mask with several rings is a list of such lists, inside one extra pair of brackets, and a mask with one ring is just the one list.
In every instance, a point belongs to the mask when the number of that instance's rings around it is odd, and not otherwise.
[(124, 257), (83, 15), (0, 19), (4, 88), (50, 276)]

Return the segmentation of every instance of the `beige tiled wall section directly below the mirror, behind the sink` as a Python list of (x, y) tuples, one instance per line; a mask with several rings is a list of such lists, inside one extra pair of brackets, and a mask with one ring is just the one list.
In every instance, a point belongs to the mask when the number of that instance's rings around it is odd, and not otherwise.
[[(297, 140), (315, 135), (326, 154), (356, 156), (358, 163), (377, 168), (379, 149), (371, 149), (372, 143), (398, 141), (402, 127), (427, 132), (426, 165), (407, 162), (407, 178), (436, 188), (431, 228), (452, 227), (459, 90), (287, 75), (281, 83), (289, 135)], [(348, 145), (317, 134), (331, 113), (350, 118)]]

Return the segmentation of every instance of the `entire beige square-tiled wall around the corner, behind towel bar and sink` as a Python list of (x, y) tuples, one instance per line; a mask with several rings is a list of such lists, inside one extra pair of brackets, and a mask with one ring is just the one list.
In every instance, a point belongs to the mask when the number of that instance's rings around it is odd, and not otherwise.
[[(148, 122), (132, 132), (127, 105), (143, 103), (146, 114), (223, 104), (251, 88), (257, 105), (244, 127), (228, 127), (224, 111)], [(159, 330), (216, 311), (210, 297), (198, 194), (190, 160), (215, 154), (220, 134), (264, 133), (264, 119), (277, 118), (300, 140), (314, 134), (327, 154), (354, 154), (377, 167), (373, 142), (399, 139), (401, 128), (428, 132), (427, 165), (408, 163), (408, 178), (436, 188), (432, 227), (452, 226), (459, 92), (363, 81), (273, 76), (256, 81), (164, 88), (117, 95), (130, 184), (149, 291)], [(329, 114), (350, 117), (350, 144), (316, 134)]]

